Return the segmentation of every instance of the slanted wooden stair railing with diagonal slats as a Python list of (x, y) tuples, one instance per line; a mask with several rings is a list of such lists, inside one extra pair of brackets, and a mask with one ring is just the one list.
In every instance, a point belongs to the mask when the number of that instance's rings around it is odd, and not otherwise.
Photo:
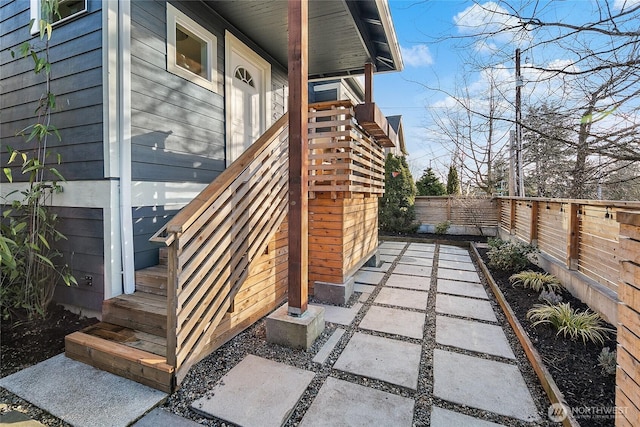
[(168, 246), (167, 363), (177, 383), (207, 341), (287, 213), (288, 115), (150, 240)]

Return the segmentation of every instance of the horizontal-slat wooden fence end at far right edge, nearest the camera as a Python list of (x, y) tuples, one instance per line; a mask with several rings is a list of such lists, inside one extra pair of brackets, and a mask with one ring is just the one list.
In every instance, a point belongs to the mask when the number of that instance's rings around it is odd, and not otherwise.
[[(640, 366), (640, 212), (618, 212), (620, 223), (620, 283), (618, 286), (618, 351), (616, 426), (640, 419), (638, 367)], [(634, 421), (635, 420), (635, 421)]]

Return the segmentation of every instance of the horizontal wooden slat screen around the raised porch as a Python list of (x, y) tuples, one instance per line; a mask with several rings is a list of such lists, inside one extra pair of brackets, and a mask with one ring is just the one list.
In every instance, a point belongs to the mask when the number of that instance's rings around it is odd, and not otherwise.
[(309, 111), (309, 192), (381, 196), (384, 150), (354, 120), (351, 101), (311, 104)]

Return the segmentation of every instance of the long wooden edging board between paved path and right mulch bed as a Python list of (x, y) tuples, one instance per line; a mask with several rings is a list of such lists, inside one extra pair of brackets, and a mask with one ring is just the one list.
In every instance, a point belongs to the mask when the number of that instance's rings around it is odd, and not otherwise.
[[(551, 376), (551, 373), (549, 372), (547, 367), (544, 365), (544, 362), (542, 361), (540, 354), (533, 346), (533, 343), (531, 342), (531, 340), (529, 339), (529, 336), (527, 335), (524, 328), (518, 321), (513, 310), (511, 310), (511, 307), (509, 306), (509, 303), (507, 302), (504, 295), (502, 294), (502, 291), (500, 291), (500, 288), (498, 288), (498, 285), (496, 284), (496, 282), (494, 282), (493, 277), (489, 272), (489, 269), (484, 264), (482, 257), (478, 253), (476, 245), (471, 244), (470, 247), (472, 249), (475, 260), (480, 266), (482, 273), (484, 274), (485, 278), (487, 279), (487, 282), (489, 283), (489, 286), (491, 287), (491, 291), (493, 292), (494, 296), (498, 300), (498, 303), (500, 304), (502, 311), (504, 312), (507, 320), (509, 321), (509, 324), (511, 325), (511, 327), (513, 328), (513, 331), (518, 337), (518, 340), (520, 341), (520, 344), (522, 345), (522, 348), (524, 349), (527, 355), (527, 358), (529, 359), (529, 362), (533, 366), (534, 371), (536, 372), (536, 374), (538, 375), (538, 378), (540, 379), (540, 383), (542, 387), (547, 392), (547, 396), (549, 396), (549, 400), (551, 400), (551, 403), (553, 404), (561, 404), (565, 408), (568, 408), (569, 406), (567, 405), (567, 402), (564, 398), (564, 394), (560, 391), (560, 389), (558, 388), (558, 385), (556, 384), (553, 377)], [(571, 411), (565, 411), (565, 413), (567, 416), (562, 420), (562, 425), (564, 427), (580, 427), (580, 424), (575, 419)]]

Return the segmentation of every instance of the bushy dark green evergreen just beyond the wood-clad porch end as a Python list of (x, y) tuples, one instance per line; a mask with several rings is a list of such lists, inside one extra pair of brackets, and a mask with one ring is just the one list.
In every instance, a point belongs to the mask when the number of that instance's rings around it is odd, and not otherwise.
[(379, 227), (391, 233), (415, 233), (416, 186), (403, 156), (387, 155), (384, 164), (385, 189), (379, 201)]

